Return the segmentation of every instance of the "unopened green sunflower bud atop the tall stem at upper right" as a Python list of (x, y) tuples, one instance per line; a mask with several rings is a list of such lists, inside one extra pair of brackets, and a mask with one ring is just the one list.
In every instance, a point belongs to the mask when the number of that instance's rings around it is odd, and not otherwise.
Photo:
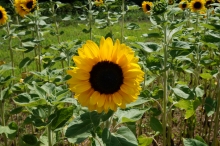
[(159, 15), (164, 13), (167, 10), (167, 2), (164, 0), (156, 1), (153, 7), (153, 14)]

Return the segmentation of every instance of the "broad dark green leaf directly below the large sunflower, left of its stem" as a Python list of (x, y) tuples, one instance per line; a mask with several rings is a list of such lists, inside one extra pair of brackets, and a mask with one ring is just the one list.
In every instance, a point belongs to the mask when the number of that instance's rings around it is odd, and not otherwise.
[(73, 138), (76, 135), (90, 132), (93, 128), (99, 125), (101, 114), (97, 112), (86, 112), (75, 118), (67, 127), (65, 136)]

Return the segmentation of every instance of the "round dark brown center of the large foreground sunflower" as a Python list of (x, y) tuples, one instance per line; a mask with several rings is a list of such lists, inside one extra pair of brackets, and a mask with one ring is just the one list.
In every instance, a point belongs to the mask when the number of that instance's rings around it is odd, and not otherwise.
[(95, 91), (101, 94), (113, 94), (123, 84), (123, 72), (118, 64), (101, 61), (93, 66), (89, 82)]

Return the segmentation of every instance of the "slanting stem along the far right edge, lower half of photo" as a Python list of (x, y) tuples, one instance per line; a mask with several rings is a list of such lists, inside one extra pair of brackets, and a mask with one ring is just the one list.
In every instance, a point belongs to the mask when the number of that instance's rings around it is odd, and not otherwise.
[[(220, 69), (219, 69), (220, 71)], [(217, 107), (215, 113), (215, 128), (214, 128), (214, 137), (213, 137), (213, 146), (218, 145), (217, 136), (218, 136), (218, 129), (219, 129), (219, 114), (220, 114), (220, 73), (218, 74), (218, 83), (217, 83)]]

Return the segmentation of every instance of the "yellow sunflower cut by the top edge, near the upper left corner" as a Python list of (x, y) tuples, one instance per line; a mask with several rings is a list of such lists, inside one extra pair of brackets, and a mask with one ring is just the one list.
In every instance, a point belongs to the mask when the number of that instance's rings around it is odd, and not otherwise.
[(31, 11), (33, 11), (36, 7), (36, 0), (15, 0), (14, 6), (15, 11), (18, 13), (21, 17), (24, 17)]

